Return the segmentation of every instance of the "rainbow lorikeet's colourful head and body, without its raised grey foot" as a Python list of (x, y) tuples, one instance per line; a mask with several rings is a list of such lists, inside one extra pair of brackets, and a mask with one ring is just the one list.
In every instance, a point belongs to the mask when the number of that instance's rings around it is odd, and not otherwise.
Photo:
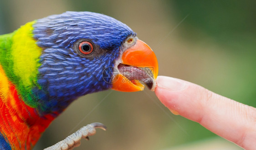
[(32, 149), (79, 96), (153, 89), (157, 74), (149, 46), (107, 15), (66, 12), (0, 35), (0, 149)]

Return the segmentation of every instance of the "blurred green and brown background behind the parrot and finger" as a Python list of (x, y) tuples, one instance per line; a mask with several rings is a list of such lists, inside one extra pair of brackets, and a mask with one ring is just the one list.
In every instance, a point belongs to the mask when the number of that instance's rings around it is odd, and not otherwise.
[[(159, 75), (188, 80), (256, 107), (255, 6), (255, 0), (0, 0), (0, 34), (65, 11), (110, 15), (151, 46)], [(173, 115), (146, 89), (81, 97), (53, 121), (35, 150), (92, 122), (102, 122), (108, 130), (97, 130), (76, 150), (199, 150), (205, 145), (208, 150), (209, 145), (241, 149), (198, 123)]]

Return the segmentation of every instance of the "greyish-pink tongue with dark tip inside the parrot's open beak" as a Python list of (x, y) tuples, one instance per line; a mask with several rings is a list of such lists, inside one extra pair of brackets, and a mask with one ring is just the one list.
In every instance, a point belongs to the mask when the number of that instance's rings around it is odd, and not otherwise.
[(154, 84), (153, 73), (149, 68), (139, 68), (136, 66), (119, 64), (118, 70), (131, 82), (143, 82), (151, 90)]

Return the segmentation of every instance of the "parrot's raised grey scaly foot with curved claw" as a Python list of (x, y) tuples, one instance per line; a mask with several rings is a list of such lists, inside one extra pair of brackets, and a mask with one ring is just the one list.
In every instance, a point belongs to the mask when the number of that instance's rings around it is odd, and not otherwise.
[(69, 135), (66, 139), (61, 140), (60, 142), (52, 145), (44, 150), (72, 150), (74, 147), (80, 145), (82, 138), (89, 140), (88, 136), (96, 134), (96, 128), (106, 130), (107, 127), (102, 123), (92, 123), (86, 126), (83, 126), (81, 129), (77, 130), (72, 135)]

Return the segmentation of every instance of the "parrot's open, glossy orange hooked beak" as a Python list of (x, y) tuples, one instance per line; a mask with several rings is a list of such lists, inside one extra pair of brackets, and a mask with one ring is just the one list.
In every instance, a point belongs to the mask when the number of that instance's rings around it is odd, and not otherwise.
[[(148, 88), (150, 90), (154, 90), (155, 80), (158, 75), (158, 61), (153, 50), (151, 50), (151, 48), (142, 40), (137, 40), (136, 44), (125, 50), (121, 57), (123, 65), (136, 67), (135, 69), (132, 68), (133, 71), (130, 72), (131, 74), (136, 75), (136, 70), (138, 70), (138, 75), (147, 74), (146, 76), (151, 76), (150, 81), (153, 83), (145, 83), (144, 81), (142, 82), (148, 85)], [(145, 71), (144, 69), (147, 69), (149, 71)], [(139, 79), (149, 80), (148, 77), (139, 77)], [(144, 85), (140, 83), (141, 80), (136, 78), (130, 80), (127, 78), (127, 76), (123, 75), (120, 72), (117, 75), (115, 75), (115, 79), (116, 80), (115, 82), (113, 82), (112, 87), (113, 90), (123, 92), (135, 92), (144, 89)]]

